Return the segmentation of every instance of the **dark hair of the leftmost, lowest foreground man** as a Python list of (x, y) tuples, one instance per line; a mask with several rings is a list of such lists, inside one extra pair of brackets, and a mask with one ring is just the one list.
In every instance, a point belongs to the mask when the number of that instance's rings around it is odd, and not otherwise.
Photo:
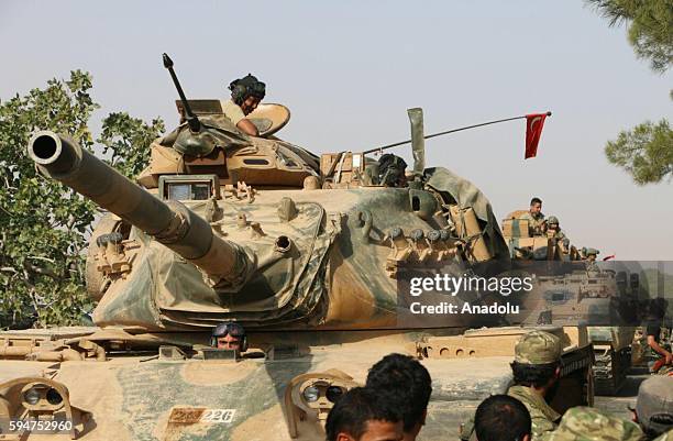
[(328, 441), (335, 441), (341, 432), (358, 439), (367, 430), (367, 421), (398, 422), (401, 415), (391, 396), (368, 387), (354, 387), (345, 393), (328, 415), (324, 430)]

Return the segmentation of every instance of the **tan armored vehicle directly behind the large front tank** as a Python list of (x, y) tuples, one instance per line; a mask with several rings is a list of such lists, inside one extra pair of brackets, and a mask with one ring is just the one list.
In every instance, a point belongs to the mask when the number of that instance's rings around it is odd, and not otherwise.
[(525, 213), (509, 213), (503, 232), (515, 266), (539, 275), (536, 293), (543, 302), (529, 322), (586, 327), (595, 350), (596, 394), (617, 394), (631, 367), (637, 320), (624, 316), (641, 295), (639, 268), (615, 261), (599, 265), (588, 261), (597, 250), (578, 249), (544, 232), (531, 234), (528, 220), (521, 219)]

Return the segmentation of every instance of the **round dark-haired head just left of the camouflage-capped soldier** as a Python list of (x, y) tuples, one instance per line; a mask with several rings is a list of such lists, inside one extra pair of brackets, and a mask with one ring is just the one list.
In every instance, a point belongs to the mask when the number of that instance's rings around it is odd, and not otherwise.
[(474, 430), (479, 441), (521, 440), (531, 432), (530, 414), (516, 398), (492, 395), (477, 407)]

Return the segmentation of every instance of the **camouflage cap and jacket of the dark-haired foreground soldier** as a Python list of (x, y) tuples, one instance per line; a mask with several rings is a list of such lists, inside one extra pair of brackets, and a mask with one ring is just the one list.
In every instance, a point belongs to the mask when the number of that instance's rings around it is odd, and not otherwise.
[[(561, 359), (561, 340), (544, 331), (532, 331), (521, 337), (515, 348), (515, 361), (521, 364), (549, 364)], [(507, 395), (523, 403), (530, 412), (532, 439), (554, 430), (561, 418), (532, 387), (511, 386)]]

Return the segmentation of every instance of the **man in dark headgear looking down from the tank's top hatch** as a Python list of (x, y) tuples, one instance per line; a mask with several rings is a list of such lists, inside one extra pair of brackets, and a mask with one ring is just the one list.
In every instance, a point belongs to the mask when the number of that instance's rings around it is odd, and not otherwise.
[(222, 111), (241, 132), (258, 136), (260, 131), (247, 117), (254, 111), (266, 95), (266, 85), (255, 76), (247, 74), (234, 79), (229, 85), (231, 99), (222, 103)]

